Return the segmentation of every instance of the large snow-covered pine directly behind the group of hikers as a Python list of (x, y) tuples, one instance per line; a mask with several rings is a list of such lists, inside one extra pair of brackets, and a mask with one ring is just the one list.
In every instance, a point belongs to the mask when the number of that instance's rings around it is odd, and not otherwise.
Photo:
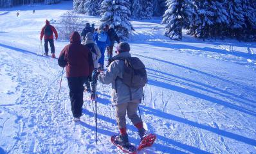
[(125, 40), (134, 30), (131, 24), (129, 0), (104, 0), (101, 5), (102, 24), (114, 24), (117, 35)]

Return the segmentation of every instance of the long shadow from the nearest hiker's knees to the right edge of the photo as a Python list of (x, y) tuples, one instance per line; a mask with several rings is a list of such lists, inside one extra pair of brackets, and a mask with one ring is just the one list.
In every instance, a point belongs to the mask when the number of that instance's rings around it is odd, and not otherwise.
[[(244, 137), (242, 135), (237, 135), (235, 133), (226, 132), (224, 130), (220, 130), (219, 128), (213, 128), (211, 126), (206, 126), (204, 124), (199, 124), (199, 123), (196, 123), (194, 121), (184, 119), (182, 117), (174, 116), (172, 114), (167, 114), (165, 112), (162, 112), (161, 110), (156, 110), (156, 109), (153, 109), (153, 108), (150, 108), (150, 107), (145, 107), (145, 106), (140, 106), (140, 107), (142, 108), (143, 112), (145, 112), (145, 114), (152, 114), (154, 116), (161, 117), (163, 119), (169, 119), (169, 120), (172, 120), (172, 121), (177, 121), (179, 123), (188, 124), (190, 126), (193, 126), (193, 127), (199, 128), (199, 129), (203, 129), (203, 130), (206, 130), (206, 131), (209, 131), (209, 132), (212, 132), (212, 133), (216, 133), (216, 134), (221, 135), (223, 137), (228, 137), (230, 139), (233, 139), (233, 140), (236, 140), (236, 141), (239, 141), (239, 142), (244, 142), (245, 144), (250, 144), (252, 146), (256, 146), (256, 140), (254, 140), (254, 139), (250, 139), (250, 138)], [(163, 139), (163, 141), (166, 140), (165, 137), (160, 137), (160, 139), (161, 138)]]

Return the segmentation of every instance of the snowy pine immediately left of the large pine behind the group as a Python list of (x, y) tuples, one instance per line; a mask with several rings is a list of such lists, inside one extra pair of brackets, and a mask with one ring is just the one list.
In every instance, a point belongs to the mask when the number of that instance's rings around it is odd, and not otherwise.
[(99, 15), (100, 0), (86, 0), (84, 2), (84, 13), (86, 15)]

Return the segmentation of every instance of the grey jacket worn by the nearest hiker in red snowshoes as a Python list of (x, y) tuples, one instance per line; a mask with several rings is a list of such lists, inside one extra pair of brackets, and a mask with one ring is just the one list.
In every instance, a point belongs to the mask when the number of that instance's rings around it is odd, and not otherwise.
[[(114, 58), (126, 58), (131, 57), (129, 52), (120, 53)], [(122, 82), (123, 78), (123, 60), (114, 60), (107, 71), (98, 76), (98, 81), (103, 84), (112, 83), (112, 103), (118, 105), (133, 101), (134, 99), (142, 99), (143, 89), (131, 89), (131, 95), (129, 87)], [(130, 98), (131, 97), (131, 98)]]

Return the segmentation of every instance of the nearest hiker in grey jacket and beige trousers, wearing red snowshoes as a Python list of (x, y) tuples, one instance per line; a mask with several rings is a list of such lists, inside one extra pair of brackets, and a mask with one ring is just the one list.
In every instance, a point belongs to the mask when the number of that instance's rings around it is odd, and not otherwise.
[(98, 81), (103, 84), (112, 84), (112, 103), (116, 107), (116, 121), (120, 129), (120, 135), (117, 136), (118, 142), (122, 145), (129, 146), (128, 135), (126, 132), (126, 119), (125, 116), (131, 119), (140, 137), (145, 135), (142, 119), (138, 116), (138, 105), (142, 100), (143, 89), (133, 89), (129, 91), (129, 87), (122, 82), (124, 61), (119, 58), (131, 57), (129, 53), (130, 46), (127, 42), (120, 42), (117, 46), (117, 55), (113, 57), (113, 62), (107, 67), (105, 73), (98, 74)]

